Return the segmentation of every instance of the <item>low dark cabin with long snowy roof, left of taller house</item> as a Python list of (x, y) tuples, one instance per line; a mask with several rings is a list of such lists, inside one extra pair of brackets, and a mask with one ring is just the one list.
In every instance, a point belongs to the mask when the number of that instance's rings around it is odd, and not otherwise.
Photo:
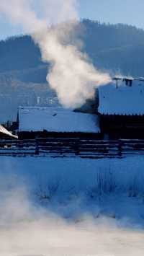
[(97, 115), (63, 107), (19, 107), (18, 124), (19, 138), (100, 138)]

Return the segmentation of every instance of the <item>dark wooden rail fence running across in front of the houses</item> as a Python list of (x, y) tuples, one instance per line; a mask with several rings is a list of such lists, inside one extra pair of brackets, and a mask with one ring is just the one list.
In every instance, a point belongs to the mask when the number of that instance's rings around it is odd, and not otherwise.
[(144, 154), (144, 140), (105, 141), (80, 138), (0, 140), (0, 156), (114, 158)]

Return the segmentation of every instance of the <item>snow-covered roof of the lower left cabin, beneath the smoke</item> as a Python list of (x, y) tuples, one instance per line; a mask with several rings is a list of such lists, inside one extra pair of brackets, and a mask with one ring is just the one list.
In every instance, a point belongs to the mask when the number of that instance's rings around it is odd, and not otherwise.
[(19, 107), (19, 131), (99, 133), (99, 117), (62, 107)]

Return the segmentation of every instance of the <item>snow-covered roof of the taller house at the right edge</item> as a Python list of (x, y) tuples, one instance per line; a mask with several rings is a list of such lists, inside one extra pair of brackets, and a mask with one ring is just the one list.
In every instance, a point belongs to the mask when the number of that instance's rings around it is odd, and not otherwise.
[(144, 115), (144, 81), (134, 79), (132, 86), (125, 81), (99, 87), (99, 108), (102, 115)]

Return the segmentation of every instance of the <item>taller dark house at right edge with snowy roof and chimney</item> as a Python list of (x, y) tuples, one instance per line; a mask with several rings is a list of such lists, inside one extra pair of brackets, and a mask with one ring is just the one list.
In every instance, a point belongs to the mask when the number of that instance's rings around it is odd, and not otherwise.
[(99, 87), (98, 113), (109, 138), (144, 138), (144, 79), (116, 77)]

